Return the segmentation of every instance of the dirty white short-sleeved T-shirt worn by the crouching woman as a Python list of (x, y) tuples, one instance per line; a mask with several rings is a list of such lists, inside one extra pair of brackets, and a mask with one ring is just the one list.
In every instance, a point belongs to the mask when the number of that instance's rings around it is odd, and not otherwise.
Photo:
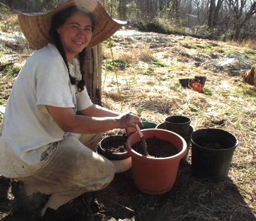
[[(68, 63), (70, 74), (81, 79), (79, 61)], [(15, 80), (0, 133), (0, 174), (31, 176), (44, 167), (42, 153), (67, 133), (55, 123), (45, 105), (79, 111), (92, 105), (86, 89), (77, 92), (67, 66), (52, 44), (29, 57)]]

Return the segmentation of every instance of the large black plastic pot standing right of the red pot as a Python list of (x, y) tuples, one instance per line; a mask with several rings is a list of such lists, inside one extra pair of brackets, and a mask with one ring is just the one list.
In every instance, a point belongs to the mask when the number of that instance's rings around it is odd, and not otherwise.
[(205, 181), (227, 178), (238, 141), (220, 129), (201, 129), (191, 134), (192, 175)]

